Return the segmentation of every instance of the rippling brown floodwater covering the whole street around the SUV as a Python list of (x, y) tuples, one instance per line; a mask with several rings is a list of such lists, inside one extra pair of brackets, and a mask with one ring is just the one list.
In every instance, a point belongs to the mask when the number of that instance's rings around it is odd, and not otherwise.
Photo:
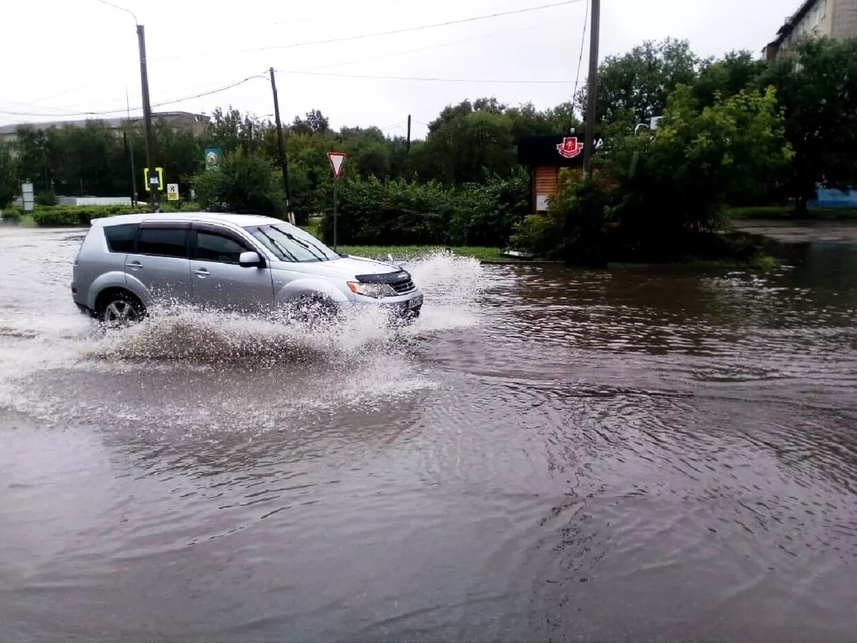
[(411, 264), (411, 328), (162, 311), (0, 228), (0, 640), (857, 640), (857, 246)]

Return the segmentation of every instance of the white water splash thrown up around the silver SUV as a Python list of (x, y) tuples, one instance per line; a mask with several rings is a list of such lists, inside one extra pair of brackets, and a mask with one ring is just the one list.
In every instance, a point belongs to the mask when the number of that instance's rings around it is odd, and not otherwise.
[[(406, 327), (373, 306), (314, 323), (288, 308), (246, 315), (184, 304), (155, 306), (144, 322), (105, 332), (76, 313), (67, 286), (37, 279), (58, 312), (33, 315), (23, 296), (8, 319), (0, 312), (0, 409), (49, 424), (121, 421), (191, 435), (237, 430), (248, 409), (253, 431), (281, 430), (302, 413), (373, 408), (433, 388), (416, 340), (476, 324), (487, 282), (477, 261), (454, 255), (407, 267), (426, 303)], [(284, 394), (272, 397), (281, 383)]]

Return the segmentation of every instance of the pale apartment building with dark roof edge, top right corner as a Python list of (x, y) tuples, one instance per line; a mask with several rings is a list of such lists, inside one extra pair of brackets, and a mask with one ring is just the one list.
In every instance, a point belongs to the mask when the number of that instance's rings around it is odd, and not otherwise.
[(764, 48), (767, 60), (788, 55), (802, 38), (857, 38), (857, 0), (805, 0)]

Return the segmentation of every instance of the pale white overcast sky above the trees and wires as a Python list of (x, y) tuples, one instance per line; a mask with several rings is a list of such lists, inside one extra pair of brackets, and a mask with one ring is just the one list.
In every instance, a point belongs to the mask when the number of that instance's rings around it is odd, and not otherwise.
[[(377, 125), (387, 135), (397, 135), (405, 133), (405, 119), (411, 113), (415, 138), (425, 135), (425, 123), (445, 105), (462, 99), (495, 96), (510, 105), (532, 101), (539, 108), (569, 99), (587, 4), (578, 0), (442, 27), (345, 39), (561, 0), (111, 2), (132, 10), (146, 26), (153, 105), (225, 87), (273, 66), (279, 70), (285, 121), (317, 108), (335, 128)], [(758, 54), (799, 4), (800, 0), (602, 0), (601, 57), (627, 51), (644, 39), (667, 36), (690, 40), (694, 51), (704, 56), (733, 49)], [(131, 15), (98, 0), (4, 0), (2, 10), (0, 124), (123, 109), (126, 88), (132, 111), (141, 105)], [(345, 40), (311, 44), (331, 39)], [(580, 81), (586, 76), (587, 52), (588, 46)], [(299, 71), (303, 73), (295, 73)], [(265, 117), (273, 112), (270, 84), (253, 78), (153, 111), (210, 113), (218, 105)]]

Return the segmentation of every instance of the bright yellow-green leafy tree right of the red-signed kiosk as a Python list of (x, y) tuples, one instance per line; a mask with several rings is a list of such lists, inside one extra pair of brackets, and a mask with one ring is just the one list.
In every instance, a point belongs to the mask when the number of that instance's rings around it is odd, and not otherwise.
[[(664, 249), (689, 232), (718, 229), (729, 195), (764, 191), (788, 165), (783, 132), (773, 87), (743, 90), (702, 111), (691, 87), (677, 87), (654, 135), (628, 135), (605, 154), (620, 186), (623, 231)], [(638, 163), (628, 176), (634, 153)]]

